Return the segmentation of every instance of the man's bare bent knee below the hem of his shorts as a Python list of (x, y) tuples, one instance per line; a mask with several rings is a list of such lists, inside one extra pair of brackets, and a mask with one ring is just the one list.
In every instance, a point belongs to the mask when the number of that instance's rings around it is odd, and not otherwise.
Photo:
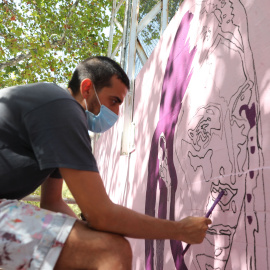
[(128, 240), (117, 234), (93, 231), (76, 222), (55, 269), (130, 270), (131, 264)]

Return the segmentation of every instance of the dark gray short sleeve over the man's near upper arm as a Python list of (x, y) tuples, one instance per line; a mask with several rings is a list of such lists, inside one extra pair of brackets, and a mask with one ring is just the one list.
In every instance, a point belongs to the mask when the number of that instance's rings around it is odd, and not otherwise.
[(73, 99), (58, 99), (23, 117), (40, 170), (71, 168), (98, 171), (92, 154), (86, 116)]

